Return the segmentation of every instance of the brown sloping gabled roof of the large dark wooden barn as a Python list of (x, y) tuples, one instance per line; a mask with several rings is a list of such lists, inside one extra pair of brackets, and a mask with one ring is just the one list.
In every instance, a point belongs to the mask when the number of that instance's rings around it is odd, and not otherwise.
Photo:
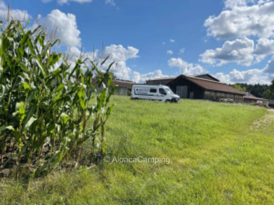
[[(185, 75), (179, 75), (176, 79), (173, 81), (177, 80), (178, 78), (186, 78), (187, 80), (191, 81), (192, 83), (195, 83), (198, 86), (203, 87), (204, 89), (207, 90), (216, 90), (216, 91), (221, 91), (221, 92), (228, 92), (228, 93), (236, 93), (239, 95), (245, 95), (244, 92), (241, 92), (225, 83), (220, 83), (215, 80), (207, 80), (204, 78), (197, 78), (197, 77), (187, 77)], [(172, 83), (171, 81), (170, 83)], [(170, 84), (168, 83), (168, 84)]]

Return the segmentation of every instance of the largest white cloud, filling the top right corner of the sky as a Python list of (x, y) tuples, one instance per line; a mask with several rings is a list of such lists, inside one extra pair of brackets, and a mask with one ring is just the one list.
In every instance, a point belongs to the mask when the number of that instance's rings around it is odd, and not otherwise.
[[(250, 5), (250, 2), (254, 3)], [(271, 37), (274, 30), (274, 2), (226, 1), (226, 8), (218, 16), (205, 22), (207, 34), (217, 39), (243, 36)]]

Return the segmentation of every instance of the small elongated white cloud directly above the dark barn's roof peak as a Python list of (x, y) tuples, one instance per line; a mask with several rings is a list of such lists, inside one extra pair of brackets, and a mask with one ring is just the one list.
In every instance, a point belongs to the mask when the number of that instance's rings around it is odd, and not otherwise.
[(180, 74), (184, 75), (195, 75), (195, 74), (201, 74), (204, 72), (204, 69), (201, 65), (199, 64), (193, 64), (193, 63), (188, 63), (182, 58), (170, 58), (168, 60), (169, 66), (173, 67), (179, 67), (179, 72)]

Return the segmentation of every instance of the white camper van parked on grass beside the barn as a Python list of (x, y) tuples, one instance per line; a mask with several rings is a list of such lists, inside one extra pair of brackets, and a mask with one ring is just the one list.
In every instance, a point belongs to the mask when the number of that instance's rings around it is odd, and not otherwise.
[(162, 102), (179, 102), (180, 96), (175, 95), (164, 85), (134, 84), (131, 91), (132, 99), (159, 100)]

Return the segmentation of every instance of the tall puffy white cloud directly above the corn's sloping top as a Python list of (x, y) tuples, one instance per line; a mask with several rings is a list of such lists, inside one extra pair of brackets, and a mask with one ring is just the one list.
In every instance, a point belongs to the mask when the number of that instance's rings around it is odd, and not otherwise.
[(61, 39), (61, 45), (81, 46), (80, 31), (74, 14), (65, 14), (55, 9), (46, 17), (40, 18), (39, 24), (44, 26), (48, 36), (53, 35), (55, 39)]

